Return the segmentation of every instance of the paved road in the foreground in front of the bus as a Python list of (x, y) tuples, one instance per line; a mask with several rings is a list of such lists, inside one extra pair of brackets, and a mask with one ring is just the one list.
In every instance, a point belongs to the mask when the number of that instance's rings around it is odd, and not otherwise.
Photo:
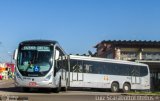
[[(116, 101), (115, 96), (124, 95), (123, 93), (111, 93), (105, 90), (74, 90), (53, 93), (46, 89), (41, 91), (22, 92), (21, 89), (14, 87), (13, 80), (0, 81), (0, 101)], [(151, 100), (151, 101), (160, 101)], [(123, 101), (123, 100), (122, 100)], [(125, 100), (126, 101), (126, 100)], [(136, 101), (136, 100), (132, 100)], [(144, 100), (141, 100), (144, 101)]]

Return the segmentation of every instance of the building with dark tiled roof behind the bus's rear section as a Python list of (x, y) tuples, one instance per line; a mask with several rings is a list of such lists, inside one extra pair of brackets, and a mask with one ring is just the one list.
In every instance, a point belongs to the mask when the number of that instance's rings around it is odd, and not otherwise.
[(148, 64), (152, 90), (160, 90), (160, 41), (116, 41), (98, 43), (95, 56)]

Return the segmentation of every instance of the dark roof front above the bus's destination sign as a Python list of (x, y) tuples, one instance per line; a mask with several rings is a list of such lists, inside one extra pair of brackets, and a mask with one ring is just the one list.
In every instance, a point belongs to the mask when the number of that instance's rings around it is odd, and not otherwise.
[(53, 40), (26, 40), (20, 43), (20, 45), (24, 45), (24, 44), (25, 45), (30, 45), (30, 44), (55, 45), (55, 44), (58, 44), (58, 42)]

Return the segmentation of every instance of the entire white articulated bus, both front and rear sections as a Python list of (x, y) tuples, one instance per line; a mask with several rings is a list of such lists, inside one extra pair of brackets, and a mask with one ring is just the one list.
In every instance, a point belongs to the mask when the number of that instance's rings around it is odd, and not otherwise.
[(14, 52), (15, 86), (49, 88), (104, 88), (112, 92), (149, 90), (150, 71), (146, 64), (67, 55), (57, 41), (28, 40)]

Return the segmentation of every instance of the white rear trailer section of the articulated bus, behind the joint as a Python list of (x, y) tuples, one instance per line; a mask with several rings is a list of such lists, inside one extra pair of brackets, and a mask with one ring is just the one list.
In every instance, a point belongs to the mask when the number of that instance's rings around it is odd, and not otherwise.
[(141, 63), (70, 55), (70, 87), (149, 90), (150, 71)]

